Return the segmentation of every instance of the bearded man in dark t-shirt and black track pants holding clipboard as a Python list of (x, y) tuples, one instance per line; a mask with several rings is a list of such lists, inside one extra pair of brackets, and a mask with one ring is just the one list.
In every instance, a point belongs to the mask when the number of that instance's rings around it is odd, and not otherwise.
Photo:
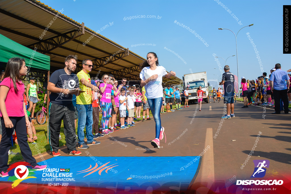
[[(73, 95), (70, 90), (79, 88), (79, 79), (74, 71), (77, 58), (69, 55), (65, 59), (65, 68), (56, 70), (49, 79), (47, 90), (49, 95), (49, 145), (53, 156), (60, 156), (59, 135), (62, 120), (64, 122), (64, 134), (69, 155), (80, 155), (76, 149), (75, 108), (72, 104)], [(79, 95), (79, 94), (76, 94)]]

